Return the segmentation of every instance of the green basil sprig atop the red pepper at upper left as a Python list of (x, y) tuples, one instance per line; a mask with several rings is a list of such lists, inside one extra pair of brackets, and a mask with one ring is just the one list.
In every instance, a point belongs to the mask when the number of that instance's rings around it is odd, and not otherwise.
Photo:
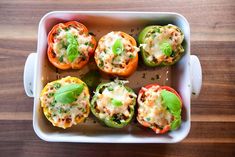
[(71, 34), (67, 33), (66, 35), (68, 47), (67, 47), (67, 56), (70, 62), (73, 62), (75, 58), (80, 54), (78, 51), (78, 42), (77, 39)]

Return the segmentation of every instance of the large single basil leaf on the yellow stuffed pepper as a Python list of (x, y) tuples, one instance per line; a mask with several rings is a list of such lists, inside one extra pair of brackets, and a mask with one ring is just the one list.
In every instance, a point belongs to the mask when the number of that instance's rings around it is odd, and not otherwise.
[(55, 92), (55, 100), (63, 104), (72, 103), (76, 101), (76, 97), (82, 93), (83, 89), (83, 84), (68, 84), (62, 86)]

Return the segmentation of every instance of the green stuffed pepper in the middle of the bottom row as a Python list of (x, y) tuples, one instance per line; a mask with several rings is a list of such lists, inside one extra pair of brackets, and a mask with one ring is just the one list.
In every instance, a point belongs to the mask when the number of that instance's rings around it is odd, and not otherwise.
[(125, 83), (120, 80), (102, 83), (92, 98), (92, 113), (108, 127), (122, 128), (134, 115), (137, 96)]

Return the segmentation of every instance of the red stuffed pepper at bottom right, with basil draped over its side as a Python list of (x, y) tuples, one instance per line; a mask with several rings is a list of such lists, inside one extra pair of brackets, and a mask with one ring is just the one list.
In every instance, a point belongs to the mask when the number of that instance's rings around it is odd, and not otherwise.
[(153, 129), (156, 134), (180, 127), (182, 100), (171, 87), (157, 84), (142, 87), (137, 101), (138, 122)]

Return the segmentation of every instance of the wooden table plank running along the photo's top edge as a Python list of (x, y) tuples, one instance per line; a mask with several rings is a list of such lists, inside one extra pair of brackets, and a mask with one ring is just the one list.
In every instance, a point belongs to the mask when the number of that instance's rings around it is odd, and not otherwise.
[[(174, 4), (172, 4), (174, 3)], [(41, 17), (53, 10), (129, 10), (129, 11), (170, 11), (183, 14), (190, 23), (192, 40), (234, 41), (235, 4), (233, 0), (214, 1), (7, 1), (0, 2), (0, 30), (8, 38), (20, 33), (12, 32), (17, 26), (26, 36), (36, 37)], [(10, 19), (10, 20), (9, 20)], [(24, 29), (25, 28), (25, 29)]]

